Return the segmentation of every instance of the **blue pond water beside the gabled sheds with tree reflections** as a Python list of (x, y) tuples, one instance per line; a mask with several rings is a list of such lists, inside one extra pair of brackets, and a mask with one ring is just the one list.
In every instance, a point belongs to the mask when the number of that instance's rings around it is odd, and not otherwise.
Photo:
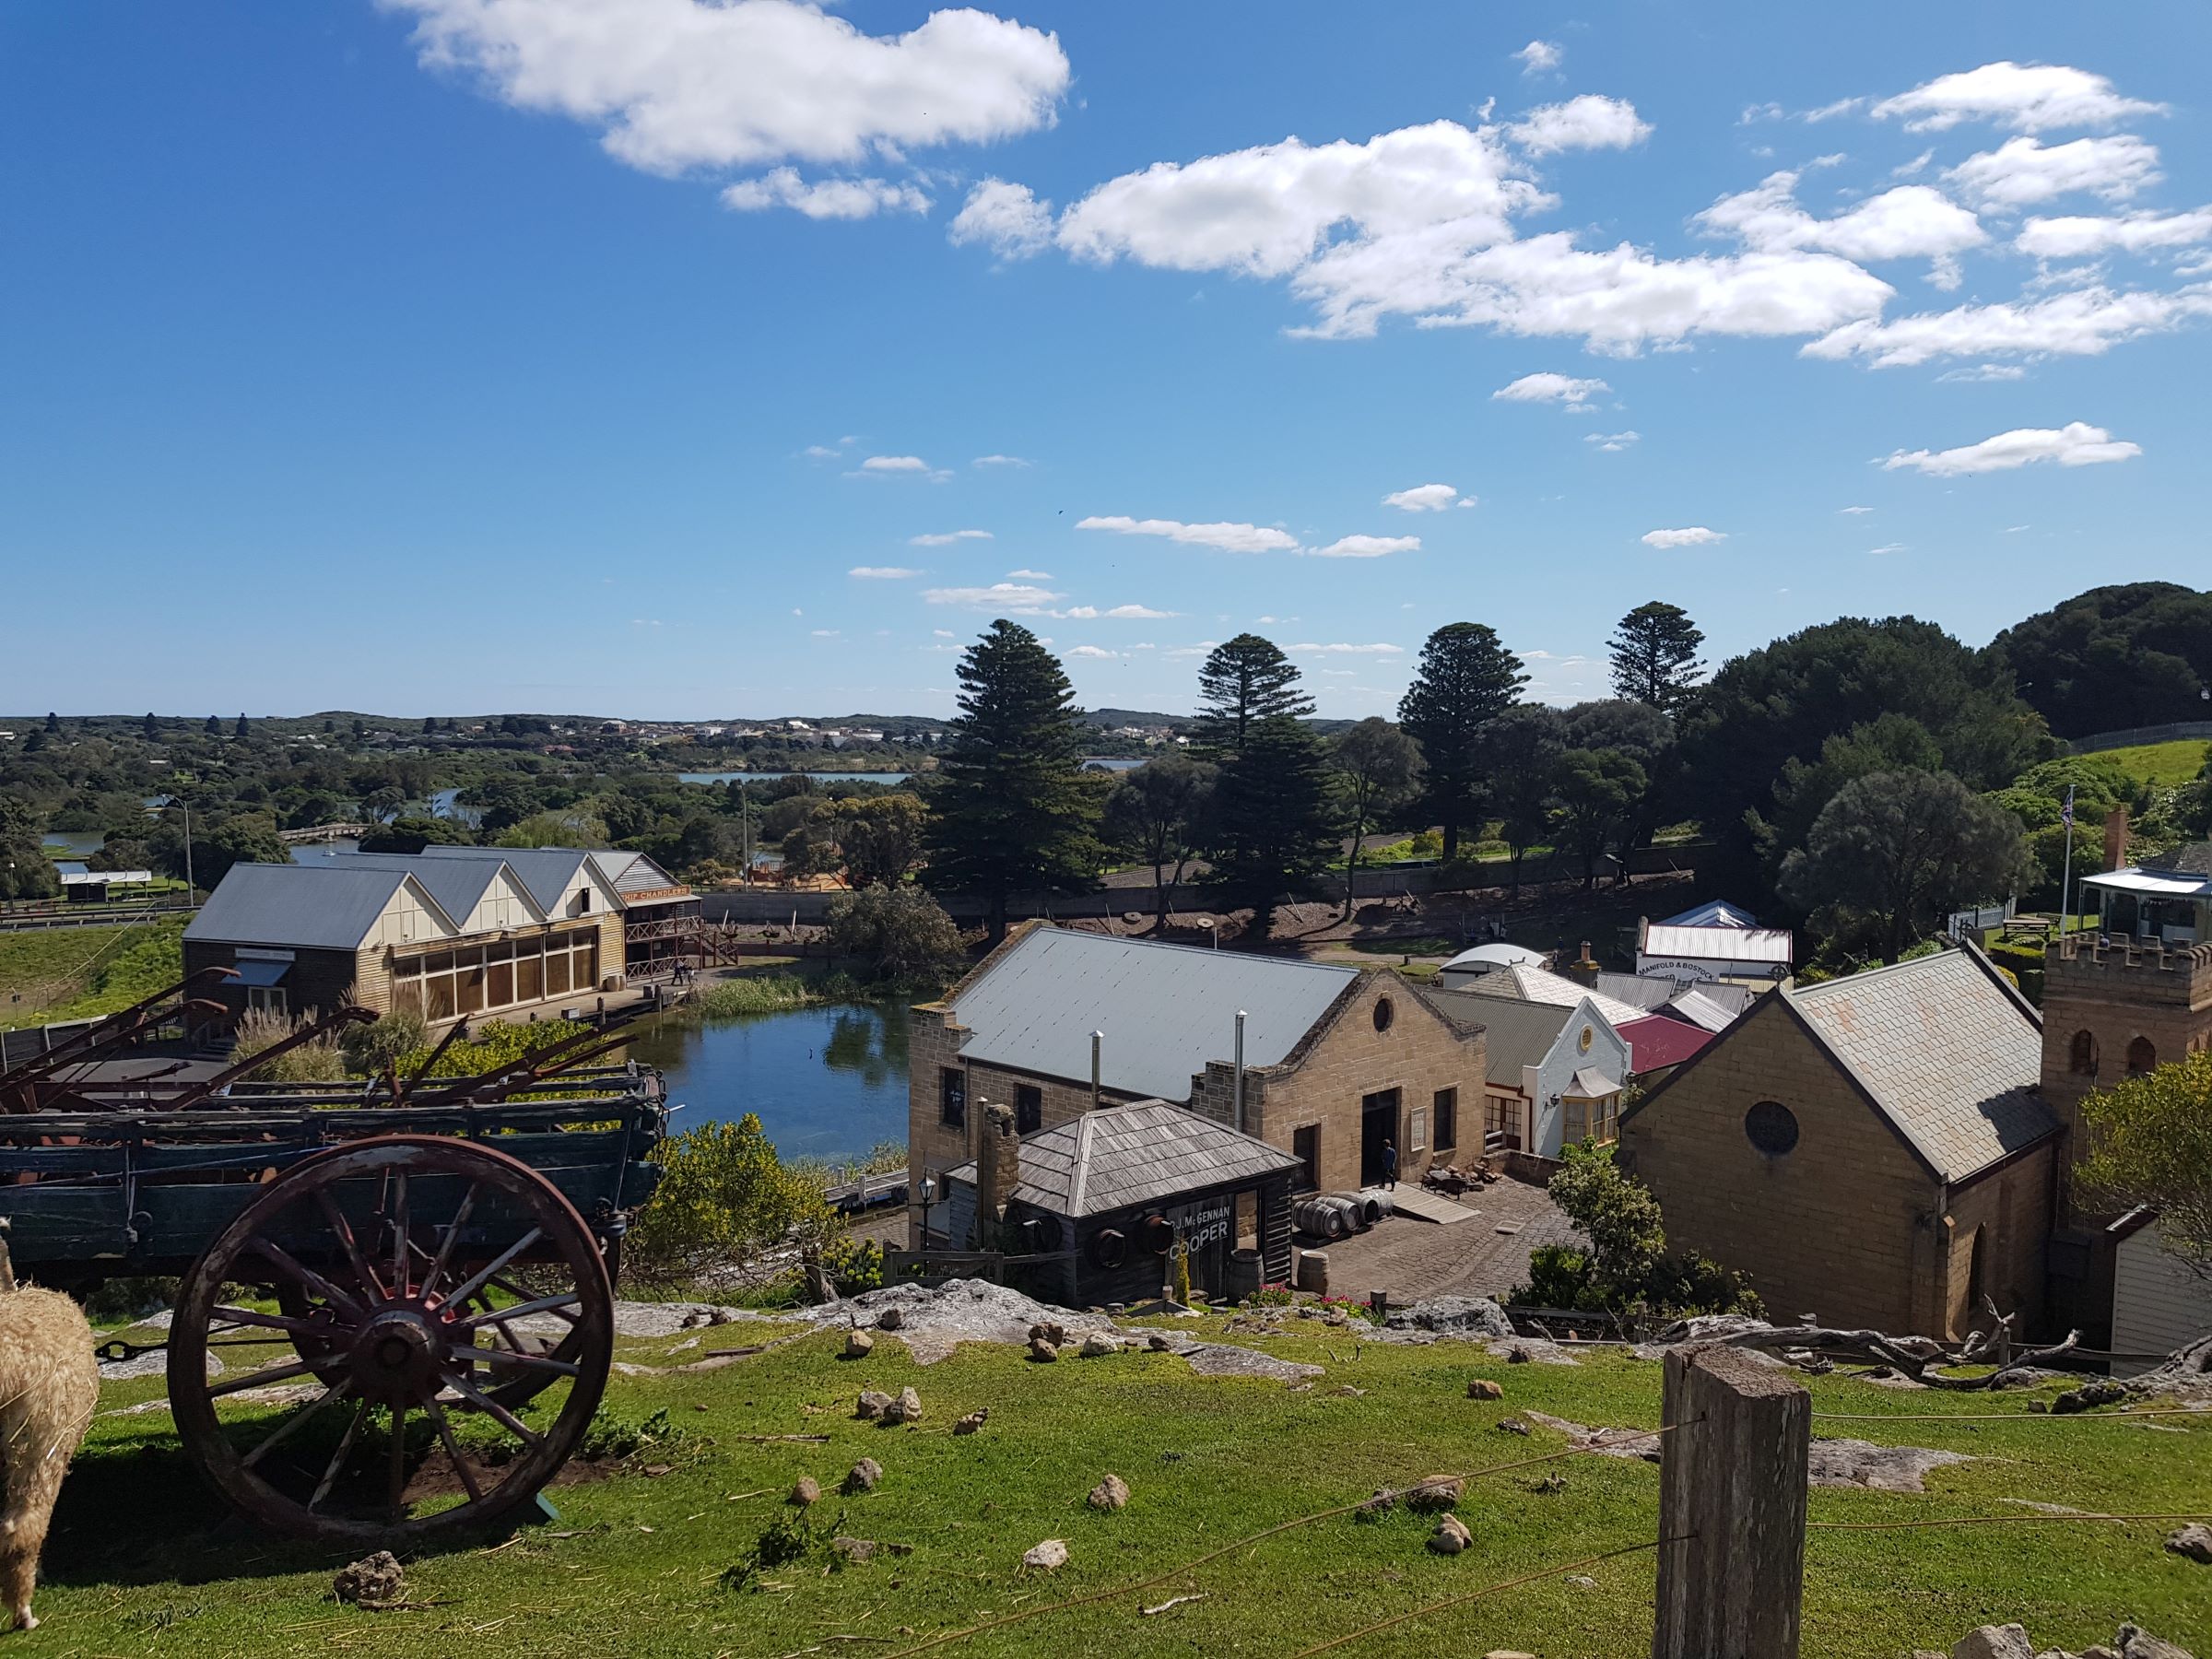
[(902, 1004), (648, 1022), (630, 1055), (668, 1075), (668, 1128), (757, 1113), (783, 1157), (830, 1164), (907, 1139)]

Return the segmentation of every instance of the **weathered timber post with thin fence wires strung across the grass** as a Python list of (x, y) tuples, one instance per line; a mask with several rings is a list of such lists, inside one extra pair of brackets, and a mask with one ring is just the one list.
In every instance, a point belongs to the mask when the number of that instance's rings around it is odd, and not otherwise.
[[(1265, 1526), (1245, 1537), (1148, 1573), (1126, 1584), (1088, 1590), (1000, 1613), (975, 1624), (925, 1635), (887, 1659), (918, 1659), (984, 1632), (1046, 1619), (1077, 1608), (1139, 1597), (1170, 1582), (1188, 1582), (1214, 1562), (1243, 1555), (1272, 1537), (1303, 1526), (1354, 1515), (1402, 1498), (1418, 1498), (1438, 1482), (1478, 1482), (1495, 1475), (1566, 1462), (1571, 1458), (1619, 1455), (1624, 1447), (1652, 1442), (1659, 1451), (1659, 1515), (1652, 1537), (1626, 1540), (1571, 1559), (1548, 1562), (1462, 1595), (1389, 1613), (1354, 1630), (1332, 1635), (1292, 1659), (1318, 1659), (1387, 1630), (1433, 1619), (1473, 1601), (1502, 1597), (1515, 1588), (1584, 1573), (1606, 1562), (1655, 1553), (1652, 1659), (1798, 1659), (1803, 1637), (1805, 1553), (1812, 1533), (1887, 1533), (1982, 1526), (2128, 1526), (2212, 1522), (2212, 1504), (2197, 1511), (2097, 1513), (2059, 1511), (2026, 1515), (1940, 1515), (1913, 1520), (1812, 1520), (1809, 1453), (1814, 1422), (2017, 1422), (2048, 1429), (2137, 1422), (2141, 1418), (2192, 1416), (2212, 1420), (2212, 1407), (2128, 1409), (2117, 1413), (2039, 1411), (1924, 1411), (1867, 1413), (1814, 1411), (1812, 1394), (1787, 1369), (1759, 1360), (1725, 1343), (1683, 1343), (1666, 1354), (1666, 1391), (1657, 1429), (1604, 1429), (1564, 1451), (1513, 1458), (1460, 1475), (1429, 1475), (1405, 1491), (1318, 1509)], [(1181, 1588), (1181, 1586), (1179, 1586)], [(1206, 1599), (1206, 1590), (1172, 1595), (1159, 1606), (1139, 1606), (1139, 1617), (1168, 1613)], [(1949, 1646), (1949, 1644), (1944, 1644)]]

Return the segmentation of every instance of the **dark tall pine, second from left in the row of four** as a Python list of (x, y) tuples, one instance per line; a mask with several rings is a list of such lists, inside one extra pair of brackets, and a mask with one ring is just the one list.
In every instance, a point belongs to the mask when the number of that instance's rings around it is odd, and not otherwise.
[(1305, 723), (1314, 701), (1292, 661), (1250, 633), (1206, 659), (1199, 697), (1199, 741), (1221, 763), (1210, 880), (1265, 933), (1274, 907), (1314, 891), (1336, 856), (1329, 763)]

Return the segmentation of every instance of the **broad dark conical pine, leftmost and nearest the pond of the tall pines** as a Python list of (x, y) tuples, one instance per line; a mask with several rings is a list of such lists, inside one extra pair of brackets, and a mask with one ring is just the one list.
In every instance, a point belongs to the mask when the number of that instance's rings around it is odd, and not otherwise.
[(1088, 887), (1099, 865), (1097, 796), (1082, 781), (1084, 728), (1060, 659), (1029, 628), (993, 622), (960, 659), (960, 717), (929, 805), (929, 885), (989, 900)]

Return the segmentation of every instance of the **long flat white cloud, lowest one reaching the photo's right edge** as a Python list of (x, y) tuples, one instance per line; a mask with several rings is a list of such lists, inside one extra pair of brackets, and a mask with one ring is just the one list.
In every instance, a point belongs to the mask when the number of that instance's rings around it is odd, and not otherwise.
[(2104, 285), (2028, 303), (1960, 305), (1893, 323), (1858, 321), (1823, 334), (1803, 356), (1869, 358), (1876, 367), (1911, 367), (1942, 356), (2097, 356), (2121, 341), (2166, 334), (2212, 316), (2212, 285), (2170, 294), (2112, 292)]

